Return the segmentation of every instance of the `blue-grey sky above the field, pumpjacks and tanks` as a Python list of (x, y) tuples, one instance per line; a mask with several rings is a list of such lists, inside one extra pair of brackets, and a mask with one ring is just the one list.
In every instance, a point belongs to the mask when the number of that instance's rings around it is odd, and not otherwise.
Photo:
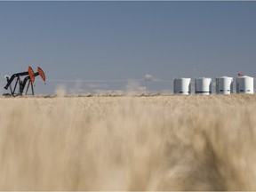
[(256, 2), (0, 2), (0, 40), (2, 85), (4, 75), (28, 66), (43, 68), (48, 80), (84, 80), (84, 92), (112, 89), (87, 80), (147, 74), (167, 81), (255, 76)]

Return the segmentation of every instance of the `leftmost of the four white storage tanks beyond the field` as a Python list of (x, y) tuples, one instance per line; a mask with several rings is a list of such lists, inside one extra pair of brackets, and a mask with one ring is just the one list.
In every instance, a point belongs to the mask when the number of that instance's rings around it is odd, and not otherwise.
[(191, 94), (191, 78), (174, 78), (173, 92), (175, 94)]

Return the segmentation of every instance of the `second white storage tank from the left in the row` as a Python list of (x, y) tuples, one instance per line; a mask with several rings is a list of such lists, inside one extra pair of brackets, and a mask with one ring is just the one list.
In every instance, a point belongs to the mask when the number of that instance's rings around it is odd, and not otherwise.
[(212, 93), (212, 78), (200, 77), (195, 79), (196, 94), (211, 94)]

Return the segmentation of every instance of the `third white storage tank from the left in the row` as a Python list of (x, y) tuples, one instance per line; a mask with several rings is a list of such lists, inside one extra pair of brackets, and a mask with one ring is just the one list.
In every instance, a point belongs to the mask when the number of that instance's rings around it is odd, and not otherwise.
[(233, 92), (233, 77), (220, 76), (216, 77), (216, 93), (230, 94)]

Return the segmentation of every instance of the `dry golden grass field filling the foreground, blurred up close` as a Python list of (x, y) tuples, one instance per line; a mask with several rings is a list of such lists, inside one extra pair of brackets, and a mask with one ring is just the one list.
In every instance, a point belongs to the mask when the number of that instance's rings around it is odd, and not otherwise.
[(0, 190), (256, 190), (256, 95), (0, 98)]

